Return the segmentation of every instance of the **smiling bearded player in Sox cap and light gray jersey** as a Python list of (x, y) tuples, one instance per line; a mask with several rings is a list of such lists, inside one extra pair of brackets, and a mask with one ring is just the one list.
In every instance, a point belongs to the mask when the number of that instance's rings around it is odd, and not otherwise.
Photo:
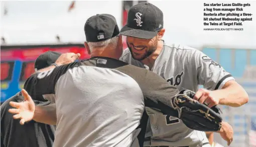
[[(131, 7), (120, 33), (126, 48), (120, 60), (147, 68), (179, 90), (197, 91), (194, 99), (209, 107), (217, 104), (240, 106), (248, 101), (246, 91), (223, 67), (203, 52), (180, 44), (168, 44), (162, 37), (163, 13), (143, 2)], [(205, 89), (199, 89), (203, 85)], [(144, 146), (210, 146), (205, 132), (189, 129), (176, 117), (146, 107), (150, 117)], [(222, 136), (225, 139), (225, 136)]]

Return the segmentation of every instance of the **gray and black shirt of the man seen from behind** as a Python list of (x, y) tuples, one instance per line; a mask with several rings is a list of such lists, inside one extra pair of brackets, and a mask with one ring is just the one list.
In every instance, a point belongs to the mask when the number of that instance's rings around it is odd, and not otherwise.
[(55, 94), (54, 146), (139, 146), (145, 136), (138, 139), (144, 129), (139, 124), (146, 130), (148, 122), (142, 121), (144, 103), (178, 116), (168, 106), (177, 88), (154, 72), (112, 58), (94, 57), (36, 72), (27, 84), (32, 85), (32, 97)]

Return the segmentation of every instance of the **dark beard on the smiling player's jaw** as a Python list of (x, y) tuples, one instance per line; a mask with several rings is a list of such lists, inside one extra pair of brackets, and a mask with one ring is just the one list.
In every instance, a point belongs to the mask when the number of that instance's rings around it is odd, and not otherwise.
[(131, 54), (133, 56), (134, 59), (137, 59), (137, 60), (144, 60), (145, 58), (149, 57), (154, 51), (157, 50), (157, 43), (158, 43), (158, 40), (156, 39), (153, 44), (151, 46), (149, 46), (148, 50), (146, 50), (147, 48), (145, 48), (145, 53), (143, 53), (143, 55), (140, 57), (140, 58), (136, 58), (133, 54), (133, 51), (132, 51), (132, 47), (129, 45), (129, 43), (126, 41), (126, 44), (127, 44), (127, 47), (129, 48), (129, 50), (131, 51)]

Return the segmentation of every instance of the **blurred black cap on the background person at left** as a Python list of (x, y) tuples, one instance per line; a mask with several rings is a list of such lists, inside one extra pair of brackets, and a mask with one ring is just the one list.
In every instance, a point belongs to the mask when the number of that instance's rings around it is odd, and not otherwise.
[(39, 70), (45, 67), (50, 66), (52, 63), (59, 58), (61, 55), (60, 52), (48, 50), (42, 54), (40, 54), (35, 61), (35, 70)]

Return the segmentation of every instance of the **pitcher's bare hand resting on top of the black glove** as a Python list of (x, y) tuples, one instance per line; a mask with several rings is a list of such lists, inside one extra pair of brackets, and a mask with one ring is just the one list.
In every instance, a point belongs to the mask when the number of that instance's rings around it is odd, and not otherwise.
[(214, 91), (200, 88), (194, 95), (193, 99), (200, 103), (205, 103), (208, 107), (219, 104), (219, 96), (214, 94)]

